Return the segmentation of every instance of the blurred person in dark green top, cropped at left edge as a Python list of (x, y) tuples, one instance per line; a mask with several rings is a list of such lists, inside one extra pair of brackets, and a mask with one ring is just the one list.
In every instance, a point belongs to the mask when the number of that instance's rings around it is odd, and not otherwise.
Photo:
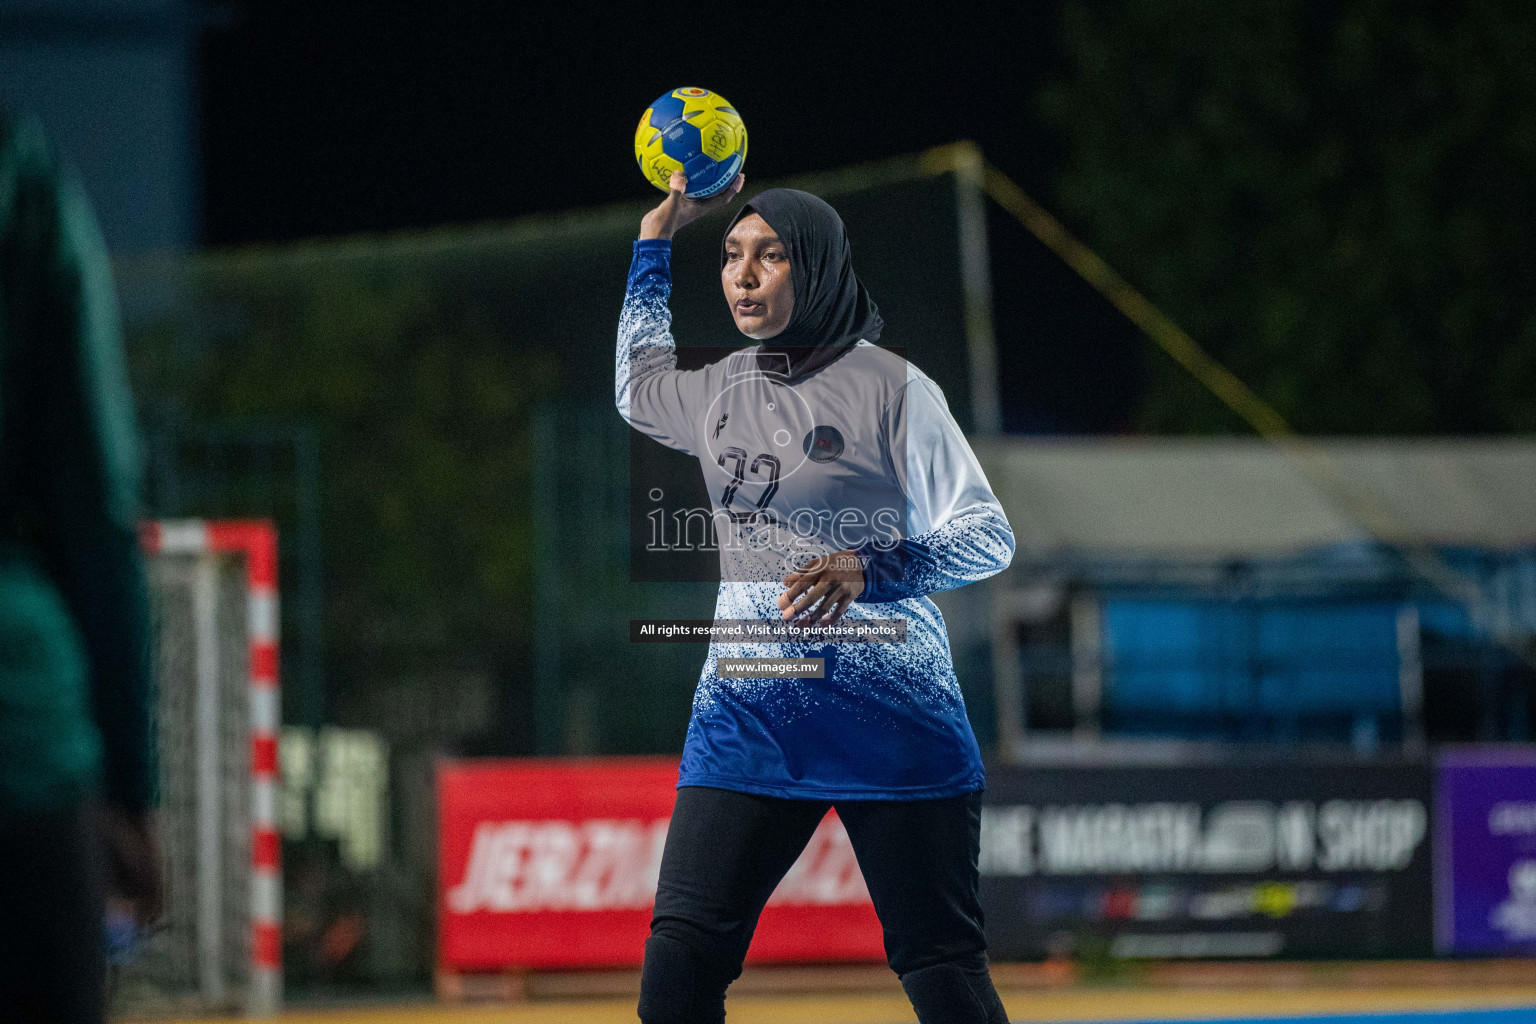
[(137, 504), (101, 233), (0, 109), (0, 1021), (101, 1021), (106, 894), (160, 913)]

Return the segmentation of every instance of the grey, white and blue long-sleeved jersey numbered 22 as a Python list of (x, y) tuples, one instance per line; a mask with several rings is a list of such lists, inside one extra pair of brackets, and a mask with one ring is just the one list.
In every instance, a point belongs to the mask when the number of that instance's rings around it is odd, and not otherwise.
[[(902, 643), (711, 643), (679, 786), (820, 800), (951, 797), (985, 783), (943, 617), (928, 594), (1008, 567), (1014, 534), (945, 396), (860, 341), (796, 381), (757, 347), (677, 370), (671, 243), (634, 243), (619, 319), (619, 415), (699, 459), (720, 547), (716, 619), (779, 620), (783, 576), (852, 550), (843, 616), (905, 619)], [(823, 679), (722, 679), (727, 657), (825, 659)]]

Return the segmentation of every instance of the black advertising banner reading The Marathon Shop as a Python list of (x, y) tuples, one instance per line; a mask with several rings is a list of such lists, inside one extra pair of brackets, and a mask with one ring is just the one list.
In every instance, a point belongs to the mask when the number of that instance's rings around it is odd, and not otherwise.
[(992, 956), (1433, 952), (1424, 761), (992, 768)]

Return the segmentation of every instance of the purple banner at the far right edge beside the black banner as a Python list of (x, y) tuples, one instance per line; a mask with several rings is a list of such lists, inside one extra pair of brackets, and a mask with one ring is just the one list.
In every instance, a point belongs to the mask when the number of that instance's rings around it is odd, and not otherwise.
[(1536, 953), (1536, 748), (1445, 751), (1435, 936), (1452, 953)]

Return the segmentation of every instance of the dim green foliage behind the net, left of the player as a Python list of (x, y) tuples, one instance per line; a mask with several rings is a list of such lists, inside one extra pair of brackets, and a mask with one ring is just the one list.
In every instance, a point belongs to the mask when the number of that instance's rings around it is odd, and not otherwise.
[[(330, 712), (343, 722), (369, 720), (356, 702), (395, 685), (502, 672), (533, 639), (528, 430), (558, 365), (439, 276), (398, 259), (194, 267), (172, 319), (131, 335), (141, 408), (174, 404), (194, 436), (203, 424), (313, 427)], [(175, 514), (275, 514), (292, 553), (286, 507), (247, 493), (240, 471), (223, 479)], [(398, 738), (416, 726), (410, 712), (370, 725)]]

